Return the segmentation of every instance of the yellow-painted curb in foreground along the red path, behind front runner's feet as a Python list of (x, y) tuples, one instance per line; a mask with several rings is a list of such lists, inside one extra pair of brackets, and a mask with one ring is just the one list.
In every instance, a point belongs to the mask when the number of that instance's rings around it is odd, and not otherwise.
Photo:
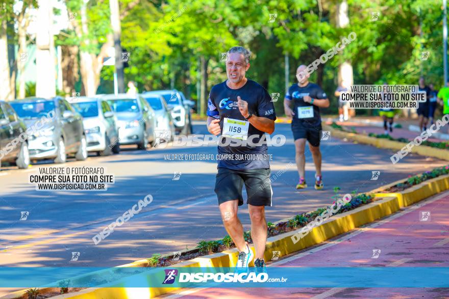
[[(371, 202), (354, 210), (332, 216), (326, 223), (314, 227), (312, 230), (310, 230), (309, 234), (301, 239), (298, 239), (296, 243), (293, 242), (293, 238), (295, 238), (293, 236), (299, 233), (301, 229), (269, 237), (267, 239), (264, 258), (267, 261), (271, 260), (273, 251), (279, 251), (279, 256), (282, 257), (311, 247), (315, 244), (326, 241), (329, 238), (351, 231), (364, 224), (368, 224), (378, 219), (384, 218), (403, 207), (413, 205), (414, 203), (417, 203), (437, 193), (446, 191), (447, 189), (449, 189), (449, 175), (443, 175), (422, 182), (401, 192), (376, 194), (375, 197), (378, 198), (378, 200), (376, 200), (375, 202)], [(297, 237), (295, 239), (297, 239)], [(254, 252), (253, 246), (251, 247), (251, 250), (253, 250)], [(233, 267), (237, 262), (237, 256), (237, 249), (231, 249), (220, 253), (197, 257), (189, 261), (172, 265), (170, 267)], [(125, 266), (147, 266), (147, 260), (139, 260), (131, 264), (122, 265), (120, 267)], [(147, 279), (148, 282), (151, 281), (151, 277), (152, 274), (149, 274)], [(180, 288), (127, 288), (117, 285), (117, 287), (109, 288), (88, 288), (79, 292), (58, 295), (53, 298), (120, 299), (136, 298), (136, 296), (139, 298), (152, 298), (162, 294), (166, 294), (168, 292), (176, 291), (178, 289)]]

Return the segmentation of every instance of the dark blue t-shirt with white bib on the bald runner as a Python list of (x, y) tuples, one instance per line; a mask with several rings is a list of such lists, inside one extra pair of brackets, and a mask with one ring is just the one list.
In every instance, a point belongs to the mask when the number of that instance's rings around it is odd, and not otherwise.
[[(314, 83), (307, 84), (304, 87), (300, 87), (297, 84), (293, 84), (288, 89), (285, 98), (293, 101), (293, 122), (299, 122), (305, 126), (319, 127), (321, 126), (321, 116), (319, 114), (319, 107), (307, 103), (304, 101), (305, 96), (310, 96), (313, 99), (327, 99), (326, 93)], [(313, 111), (313, 116), (312, 115)], [(302, 114), (302, 115), (301, 115)], [(311, 116), (311, 117), (304, 117)], [(301, 118), (300, 118), (301, 117)]]

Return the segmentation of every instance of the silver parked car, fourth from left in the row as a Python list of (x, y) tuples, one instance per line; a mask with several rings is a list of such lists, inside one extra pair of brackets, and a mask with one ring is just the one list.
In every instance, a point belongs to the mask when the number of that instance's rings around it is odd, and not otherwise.
[(153, 108), (140, 94), (103, 95), (117, 117), (120, 145), (136, 144), (146, 149), (156, 141), (156, 116)]

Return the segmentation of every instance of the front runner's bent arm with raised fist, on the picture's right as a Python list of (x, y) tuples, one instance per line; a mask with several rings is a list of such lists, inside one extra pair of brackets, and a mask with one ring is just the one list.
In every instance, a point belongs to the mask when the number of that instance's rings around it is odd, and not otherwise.
[[(237, 97), (239, 111), (244, 118), (250, 116), (248, 112), (248, 102), (242, 100), (240, 96)], [(248, 121), (258, 130), (271, 134), (275, 131), (275, 106), (273, 102), (271, 102), (270, 95), (263, 90), (263, 94), (261, 95), (261, 99), (258, 102), (257, 113), (259, 116), (254, 115), (248, 119)]]

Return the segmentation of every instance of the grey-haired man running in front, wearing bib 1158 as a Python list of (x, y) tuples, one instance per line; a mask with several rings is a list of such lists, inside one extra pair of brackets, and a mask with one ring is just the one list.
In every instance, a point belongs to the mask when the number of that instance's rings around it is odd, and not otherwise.
[[(265, 140), (265, 133), (275, 130), (276, 113), (268, 92), (258, 83), (245, 77), (250, 68), (250, 52), (243, 47), (228, 51), (226, 73), (228, 80), (212, 87), (207, 110), (207, 129), (211, 134), (221, 133), (220, 142)], [(224, 137), (224, 136), (227, 137)], [(267, 154), (265, 142), (256, 146), (218, 146), (219, 155)], [(256, 249), (256, 271), (265, 271), (265, 244), (267, 224), (265, 206), (271, 206), (270, 164), (268, 159), (218, 160), (215, 193), (224, 228), (231, 236), (239, 256), (237, 267), (247, 268), (254, 258), (243, 237), (243, 227), (237, 217), (238, 206), (243, 205), (242, 188), (246, 187), (251, 218), (251, 237)]]

